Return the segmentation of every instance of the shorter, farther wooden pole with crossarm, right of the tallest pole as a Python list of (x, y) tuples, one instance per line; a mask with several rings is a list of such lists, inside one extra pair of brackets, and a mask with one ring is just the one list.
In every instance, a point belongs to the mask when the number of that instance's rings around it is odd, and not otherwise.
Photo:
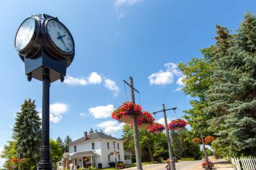
[[(176, 110), (177, 108), (171, 108), (168, 110)], [(168, 130), (168, 125), (167, 125), (167, 118), (166, 118), (166, 109), (164, 107), (164, 104), (162, 104), (162, 110), (159, 112), (164, 112), (164, 125), (165, 125), (165, 132), (166, 132), (166, 138), (167, 138), (167, 143), (168, 143), (168, 151), (169, 151), (169, 156), (170, 156), (170, 167), (173, 170), (176, 170), (175, 167), (175, 161), (173, 160), (173, 155), (172, 155), (172, 145), (170, 144), (170, 136), (169, 136), (169, 130)], [(158, 112), (153, 112), (152, 114), (156, 114)]]

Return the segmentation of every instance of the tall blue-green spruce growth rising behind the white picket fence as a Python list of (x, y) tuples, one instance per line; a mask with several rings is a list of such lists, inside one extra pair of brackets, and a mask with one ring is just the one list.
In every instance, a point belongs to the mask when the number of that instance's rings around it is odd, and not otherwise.
[(247, 13), (238, 33), (217, 26), (212, 58), (213, 85), (207, 90), (207, 112), (216, 116), (210, 129), (214, 146), (229, 155), (256, 155), (256, 17)]

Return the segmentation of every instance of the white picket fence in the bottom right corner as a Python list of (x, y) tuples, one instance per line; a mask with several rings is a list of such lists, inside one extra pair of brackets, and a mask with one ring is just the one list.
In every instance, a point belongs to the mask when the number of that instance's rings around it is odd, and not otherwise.
[(255, 157), (241, 157), (231, 158), (228, 160), (236, 167), (236, 170), (256, 170), (256, 158)]

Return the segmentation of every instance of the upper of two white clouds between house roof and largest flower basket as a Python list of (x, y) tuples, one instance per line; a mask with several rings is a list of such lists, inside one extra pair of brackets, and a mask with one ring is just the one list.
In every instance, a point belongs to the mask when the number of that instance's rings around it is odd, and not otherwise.
[(106, 106), (97, 106), (96, 108), (90, 108), (88, 111), (94, 118), (109, 118), (112, 112), (115, 110), (114, 106), (106, 105)]

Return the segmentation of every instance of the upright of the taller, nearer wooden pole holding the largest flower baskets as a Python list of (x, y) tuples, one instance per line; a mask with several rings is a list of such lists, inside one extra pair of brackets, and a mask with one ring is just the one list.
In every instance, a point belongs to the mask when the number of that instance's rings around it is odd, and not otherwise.
[[(130, 87), (131, 87), (131, 102), (135, 103), (133, 77), (129, 77), (129, 79), (130, 79)], [(134, 134), (134, 142), (135, 142), (135, 156), (136, 156), (137, 169), (142, 170), (141, 153), (139, 148), (138, 127), (137, 127), (137, 120), (135, 118), (133, 119), (133, 134)]]

